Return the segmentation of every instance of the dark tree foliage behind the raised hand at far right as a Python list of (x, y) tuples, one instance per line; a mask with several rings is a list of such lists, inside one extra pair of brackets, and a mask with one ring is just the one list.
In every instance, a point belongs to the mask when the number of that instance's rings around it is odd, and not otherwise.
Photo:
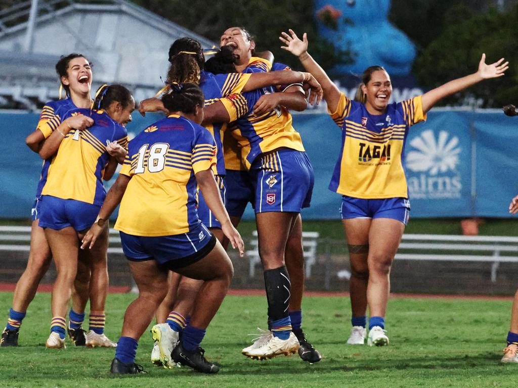
[[(518, 101), (518, 6), (506, 12), (495, 9), (445, 26), (414, 62), (418, 82), (434, 88), (452, 79), (477, 71), (482, 53), (486, 63), (505, 57), (510, 62), (506, 75), (482, 81), (464, 92), (443, 100), (442, 105), (472, 103), (482, 99), (482, 107), (502, 107)], [(471, 100), (471, 101), (470, 101)]]

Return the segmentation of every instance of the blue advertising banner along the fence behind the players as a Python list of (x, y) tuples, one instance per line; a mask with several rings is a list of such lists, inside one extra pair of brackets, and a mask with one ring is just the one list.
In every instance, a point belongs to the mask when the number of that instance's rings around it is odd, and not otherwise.
[[(162, 117), (133, 114), (132, 138)], [(0, 113), (0, 218), (28, 218), (41, 171), (41, 159), (25, 145), (39, 115)], [(340, 196), (328, 190), (338, 158), (341, 130), (326, 114), (298, 114), (293, 125), (304, 140), (315, 171), (307, 219), (338, 219)], [(518, 194), (514, 173), (518, 120), (502, 113), (430, 112), (425, 123), (410, 128), (405, 171), (411, 217), (509, 217)], [(107, 187), (111, 185), (107, 183)], [(244, 218), (253, 218), (251, 207)]]

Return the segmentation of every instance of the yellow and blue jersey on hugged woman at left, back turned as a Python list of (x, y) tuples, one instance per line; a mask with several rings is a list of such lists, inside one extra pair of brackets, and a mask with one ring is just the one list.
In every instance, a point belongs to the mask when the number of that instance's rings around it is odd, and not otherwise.
[(102, 205), (106, 197), (103, 173), (109, 161), (107, 142), (127, 144), (126, 129), (104, 111), (75, 108), (69, 116), (90, 116), (94, 124), (82, 131), (72, 129), (60, 144), (48, 168), (42, 195)]

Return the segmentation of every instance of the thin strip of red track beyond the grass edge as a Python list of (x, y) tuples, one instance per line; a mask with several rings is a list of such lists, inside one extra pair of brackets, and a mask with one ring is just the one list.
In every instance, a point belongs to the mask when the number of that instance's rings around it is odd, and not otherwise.
[[(0, 283), (0, 291), (15, 291), (15, 283)], [(110, 286), (110, 293), (124, 293), (131, 290), (131, 287)], [(38, 287), (38, 292), (50, 292), (52, 285), (44, 284)], [(228, 291), (228, 295), (266, 295), (264, 290), (244, 289)], [(349, 297), (349, 292), (330, 292), (330, 291), (305, 291), (306, 296), (335, 296)], [(510, 301), (512, 296), (493, 296), (493, 295), (444, 295), (444, 294), (391, 294), (391, 298), (413, 297), (413, 298), (430, 298), (430, 299), (486, 299), (495, 301)]]

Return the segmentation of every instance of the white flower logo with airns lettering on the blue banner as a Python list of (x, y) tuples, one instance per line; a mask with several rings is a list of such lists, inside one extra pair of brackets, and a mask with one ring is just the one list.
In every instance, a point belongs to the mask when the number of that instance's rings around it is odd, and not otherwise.
[[(407, 185), (411, 198), (461, 198), (463, 177), (457, 169), (462, 155), (459, 139), (448, 131), (425, 130), (409, 142)], [(466, 155), (463, 156), (463, 159)], [(467, 182), (466, 182), (467, 183)]]

